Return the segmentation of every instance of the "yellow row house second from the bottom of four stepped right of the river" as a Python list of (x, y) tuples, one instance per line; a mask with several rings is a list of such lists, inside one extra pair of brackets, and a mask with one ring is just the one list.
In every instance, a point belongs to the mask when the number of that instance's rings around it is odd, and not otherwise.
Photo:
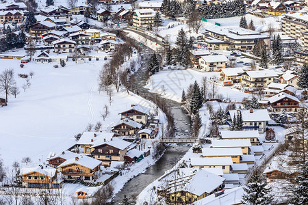
[(231, 156), (233, 163), (240, 163), (241, 156), (243, 155), (241, 148), (203, 148), (202, 156), (204, 157), (222, 157)]

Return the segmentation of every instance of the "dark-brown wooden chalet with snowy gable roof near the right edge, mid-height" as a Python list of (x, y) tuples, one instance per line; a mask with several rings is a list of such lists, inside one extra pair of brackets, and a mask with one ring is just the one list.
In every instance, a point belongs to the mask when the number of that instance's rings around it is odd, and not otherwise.
[(300, 100), (296, 96), (291, 96), (281, 92), (275, 96), (268, 98), (270, 102), (270, 110), (275, 113), (281, 113), (283, 110), (287, 112), (296, 112), (300, 109)]

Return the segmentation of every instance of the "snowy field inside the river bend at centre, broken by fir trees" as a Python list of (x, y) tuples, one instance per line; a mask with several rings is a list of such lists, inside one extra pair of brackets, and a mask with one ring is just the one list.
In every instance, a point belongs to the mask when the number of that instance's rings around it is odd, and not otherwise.
[[(187, 91), (190, 84), (197, 81), (201, 82), (203, 77), (207, 79), (217, 79), (220, 77), (220, 72), (201, 72), (197, 70), (166, 70), (159, 71), (148, 81), (146, 88), (150, 92), (162, 94), (162, 96), (181, 102), (182, 91)], [(209, 83), (210, 85), (210, 83)], [(230, 98), (233, 101), (240, 102), (244, 97), (250, 97), (250, 94), (231, 89), (230, 87), (222, 87), (218, 85), (218, 93), (222, 94), (225, 99)]]

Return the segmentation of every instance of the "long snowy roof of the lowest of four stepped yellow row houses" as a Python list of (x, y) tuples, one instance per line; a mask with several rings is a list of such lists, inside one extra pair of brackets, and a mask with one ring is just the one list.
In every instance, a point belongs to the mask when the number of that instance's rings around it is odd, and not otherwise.
[(222, 157), (192, 157), (192, 166), (233, 165), (231, 156)]

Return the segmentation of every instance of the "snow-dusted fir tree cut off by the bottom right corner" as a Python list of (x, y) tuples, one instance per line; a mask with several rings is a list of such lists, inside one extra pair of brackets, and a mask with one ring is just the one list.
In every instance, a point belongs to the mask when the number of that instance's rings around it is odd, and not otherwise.
[(292, 196), (289, 204), (302, 205), (308, 204), (308, 161), (300, 166), (298, 176), (291, 187)]

